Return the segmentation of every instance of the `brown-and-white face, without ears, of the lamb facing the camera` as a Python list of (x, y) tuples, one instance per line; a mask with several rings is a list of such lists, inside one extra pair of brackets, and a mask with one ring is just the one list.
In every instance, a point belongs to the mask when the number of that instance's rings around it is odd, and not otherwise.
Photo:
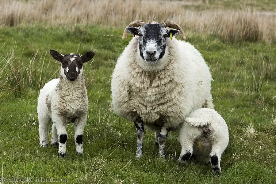
[(78, 54), (66, 54), (61, 62), (61, 67), (66, 78), (69, 81), (75, 81), (82, 75), (82, 58)]

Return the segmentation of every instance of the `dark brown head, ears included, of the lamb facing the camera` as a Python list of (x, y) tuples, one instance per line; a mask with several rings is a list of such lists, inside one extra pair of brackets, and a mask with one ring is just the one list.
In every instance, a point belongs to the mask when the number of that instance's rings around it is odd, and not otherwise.
[(82, 76), (82, 65), (84, 62), (89, 61), (95, 55), (94, 52), (86, 52), (80, 56), (78, 54), (60, 54), (57, 51), (50, 50), (51, 55), (57, 61), (61, 62), (61, 74), (69, 81), (75, 81), (79, 76)]

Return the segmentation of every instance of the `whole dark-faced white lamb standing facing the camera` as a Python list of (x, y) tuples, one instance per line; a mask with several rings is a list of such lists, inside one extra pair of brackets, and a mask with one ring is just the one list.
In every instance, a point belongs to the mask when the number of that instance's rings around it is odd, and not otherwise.
[(51, 145), (59, 145), (58, 155), (66, 156), (66, 125), (74, 123), (76, 152), (81, 155), (82, 136), (86, 125), (88, 97), (82, 65), (94, 56), (94, 52), (66, 54), (50, 50), (53, 58), (61, 62), (59, 79), (49, 81), (40, 90), (37, 103), (40, 145), (48, 147), (48, 133), (51, 119)]

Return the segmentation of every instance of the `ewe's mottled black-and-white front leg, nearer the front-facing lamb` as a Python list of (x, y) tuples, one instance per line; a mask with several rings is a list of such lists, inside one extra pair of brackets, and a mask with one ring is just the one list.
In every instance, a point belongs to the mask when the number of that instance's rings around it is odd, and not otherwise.
[(137, 136), (137, 151), (136, 151), (136, 158), (140, 159), (142, 157), (142, 149), (143, 149), (143, 141), (144, 141), (144, 122), (141, 118), (137, 118), (134, 121), (136, 127), (136, 136)]

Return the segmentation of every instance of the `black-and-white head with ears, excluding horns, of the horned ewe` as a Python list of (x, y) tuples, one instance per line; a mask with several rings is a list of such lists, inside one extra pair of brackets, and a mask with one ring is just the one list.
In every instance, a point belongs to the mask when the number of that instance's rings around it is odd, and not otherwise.
[(142, 25), (140, 29), (127, 27), (126, 30), (139, 36), (140, 56), (148, 65), (154, 65), (158, 59), (163, 58), (170, 33), (172, 33), (172, 36), (179, 34), (176, 29), (167, 29), (161, 24), (151, 23)]

